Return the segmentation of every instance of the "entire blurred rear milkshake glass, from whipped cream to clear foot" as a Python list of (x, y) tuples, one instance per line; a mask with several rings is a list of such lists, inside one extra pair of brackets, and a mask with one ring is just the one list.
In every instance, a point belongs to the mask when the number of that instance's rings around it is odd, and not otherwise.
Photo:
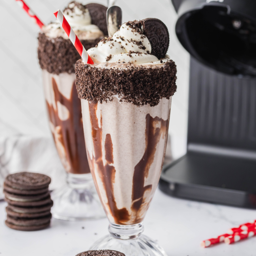
[[(107, 33), (106, 9), (75, 1), (65, 8), (65, 18), (85, 49), (95, 46)], [(97, 17), (92, 16), (95, 12)], [(67, 172), (67, 184), (52, 194), (52, 214), (63, 220), (104, 217), (86, 157), (81, 103), (75, 88), (74, 65), (80, 56), (57, 22), (43, 28), (38, 42), (50, 128)]]

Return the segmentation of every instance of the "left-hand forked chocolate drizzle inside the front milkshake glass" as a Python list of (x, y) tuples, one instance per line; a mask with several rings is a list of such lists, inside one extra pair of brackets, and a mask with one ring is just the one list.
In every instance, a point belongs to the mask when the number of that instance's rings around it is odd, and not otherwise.
[[(114, 196), (114, 188), (113, 183), (115, 182), (115, 174), (116, 169), (113, 165), (109, 165), (109, 162), (104, 165), (103, 159), (102, 159), (102, 116), (100, 119), (100, 127), (98, 125), (98, 118), (96, 115), (97, 111), (97, 101), (90, 101), (89, 102), (89, 111), (90, 111), (90, 120), (92, 125), (92, 138), (93, 138), (93, 146), (94, 146), (94, 152), (95, 156), (93, 156), (93, 159), (90, 159), (92, 162), (90, 163), (90, 166), (92, 170), (94, 170), (94, 163), (97, 164), (98, 167), (98, 174), (100, 176), (100, 179), (103, 183), (103, 186), (105, 187), (107, 200), (108, 200), (108, 206), (109, 210), (115, 219), (115, 223), (117, 224), (125, 224), (126, 221), (130, 219), (129, 213), (126, 208), (118, 209), (117, 203), (115, 201)], [(113, 144), (111, 140), (110, 134), (106, 134), (106, 142), (105, 142), (105, 149), (106, 149), (106, 155), (105, 159), (108, 159), (110, 162), (114, 162), (113, 160)], [(89, 160), (89, 161), (90, 161)], [(95, 170), (94, 170), (95, 171)], [(97, 184), (95, 174), (93, 173), (93, 178), (95, 181), (95, 184)], [(96, 186), (97, 188), (97, 186)], [(97, 188), (98, 190), (98, 188)], [(98, 194), (100, 195), (99, 191)], [(102, 201), (102, 198), (101, 198)], [(104, 205), (104, 204), (103, 204)]]

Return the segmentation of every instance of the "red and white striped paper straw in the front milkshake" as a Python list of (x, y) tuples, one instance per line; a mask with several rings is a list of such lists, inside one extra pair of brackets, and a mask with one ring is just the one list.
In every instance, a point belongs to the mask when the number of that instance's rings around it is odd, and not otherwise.
[(81, 43), (81, 41), (78, 39), (78, 37), (76, 36), (75, 32), (73, 31), (73, 29), (70, 27), (70, 25), (68, 24), (67, 20), (65, 19), (63, 13), (61, 12), (61, 10), (57, 10), (54, 12), (55, 17), (57, 18), (58, 22), (60, 23), (60, 25), (62, 26), (62, 28), (65, 30), (65, 32), (67, 33), (70, 41), (73, 43), (73, 45), (75, 46), (75, 49), (77, 50), (77, 52), (80, 54), (80, 56), (82, 57), (83, 61), (87, 64), (94, 64), (91, 57), (88, 55), (87, 51), (85, 50), (85, 47), (83, 46), (83, 44)]

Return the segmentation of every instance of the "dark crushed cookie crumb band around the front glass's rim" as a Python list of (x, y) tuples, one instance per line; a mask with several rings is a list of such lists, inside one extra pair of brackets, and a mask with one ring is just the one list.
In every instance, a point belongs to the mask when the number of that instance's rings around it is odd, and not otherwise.
[(122, 101), (136, 106), (156, 106), (160, 99), (169, 99), (177, 88), (177, 70), (172, 60), (157, 68), (132, 66), (125, 70), (97, 68), (78, 60), (75, 71), (78, 97), (100, 103), (119, 95)]

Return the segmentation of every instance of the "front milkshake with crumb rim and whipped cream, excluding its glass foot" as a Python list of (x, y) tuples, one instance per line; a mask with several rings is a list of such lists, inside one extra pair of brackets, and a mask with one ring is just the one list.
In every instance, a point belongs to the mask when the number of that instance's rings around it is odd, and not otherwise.
[(151, 54), (156, 48), (144, 32), (140, 22), (125, 23), (88, 51), (94, 65), (76, 63), (90, 169), (109, 221), (120, 225), (145, 217), (176, 90), (174, 62)]

